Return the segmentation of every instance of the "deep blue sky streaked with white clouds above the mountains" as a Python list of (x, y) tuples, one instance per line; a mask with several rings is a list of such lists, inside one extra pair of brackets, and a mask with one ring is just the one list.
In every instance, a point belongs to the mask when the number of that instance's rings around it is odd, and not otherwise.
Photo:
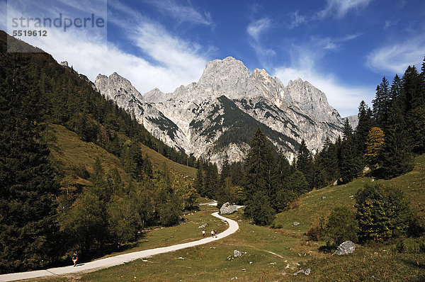
[[(1, 18), (30, 1), (13, 2), (21, 6), (6, 9), (0, 1)], [(32, 9), (35, 15), (53, 3), (40, 2), (47, 5)], [(54, 3), (61, 11), (96, 10), (89, 0)], [(123, 0), (108, 1), (107, 43), (73, 30), (48, 42), (23, 40), (91, 80), (116, 71), (141, 93), (174, 91), (198, 81), (206, 62), (232, 56), (285, 85), (297, 77), (310, 81), (345, 116), (356, 114), (362, 99), (370, 103), (382, 76), (392, 81), (409, 64), (420, 69), (424, 15), (422, 0)]]

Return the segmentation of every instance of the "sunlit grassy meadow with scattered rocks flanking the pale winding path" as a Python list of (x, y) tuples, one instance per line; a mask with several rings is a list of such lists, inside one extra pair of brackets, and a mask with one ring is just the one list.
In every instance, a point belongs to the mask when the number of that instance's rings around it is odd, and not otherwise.
[[(424, 176), (425, 155), (422, 155), (416, 158), (415, 169), (408, 174), (389, 181), (375, 181), (402, 188), (412, 210), (424, 220)], [(93, 273), (43, 281), (231, 281), (234, 277), (237, 281), (425, 281), (424, 237), (402, 238), (402, 249), (397, 247), (399, 242), (390, 242), (357, 246), (353, 254), (331, 256), (318, 252), (324, 242), (310, 242), (305, 236), (305, 232), (319, 222), (320, 216), (327, 217), (334, 207), (353, 207), (356, 191), (370, 183), (371, 178), (363, 177), (350, 184), (311, 191), (294, 203), (293, 208), (277, 215), (274, 225), (281, 225), (278, 229), (252, 225), (239, 210), (229, 216), (239, 223), (237, 233), (217, 242)], [(208, 223), (207, 233), (215, 227), (224, 230), (227, 226), (212, 218), (213, 211), (214, 208), (200, 210), (186, 215), (183, 225), (151, 230), (135, 248), (126, 252), (198, 239), (201, 232), (198, 226), (205, 222)], [(294, 226), (295, 221), (300, 225)], [(234, 249), (246, 254), (231, 258)], [(310, 276), (293, 276), (298, 269), (307, 268), (311, 269)]]

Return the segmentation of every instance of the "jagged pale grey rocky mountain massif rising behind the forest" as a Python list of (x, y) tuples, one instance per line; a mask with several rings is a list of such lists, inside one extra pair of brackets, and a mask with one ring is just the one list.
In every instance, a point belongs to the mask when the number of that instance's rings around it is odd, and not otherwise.
[(127, 111), (142, 108), (138, 120), (166, 144), (219, 167), (226, 154), (230, 162), (244, 158), (258, 127), (290, 159), (302, 139), (310, 150), (319, 150), (343, 127), (325, 94), (308, 81), (295, 79), (284, 86), (264, 69), (250, 74), (232, 57), (209, 62), (198, 82), (169, 94), (153, 89), (140, 98), (130, 81), (117, 76), (105, 81), (100, 75), (96, 87)]

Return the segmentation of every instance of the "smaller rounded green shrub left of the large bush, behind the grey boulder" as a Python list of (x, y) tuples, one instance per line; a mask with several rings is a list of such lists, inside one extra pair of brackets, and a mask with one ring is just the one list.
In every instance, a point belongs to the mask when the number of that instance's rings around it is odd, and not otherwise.
[(344, 241), (357, 242), (358, 223), (355, 213), (347, 207), (332, 210), (326, 225), (324, 239), (327, 244), (338, 246)]

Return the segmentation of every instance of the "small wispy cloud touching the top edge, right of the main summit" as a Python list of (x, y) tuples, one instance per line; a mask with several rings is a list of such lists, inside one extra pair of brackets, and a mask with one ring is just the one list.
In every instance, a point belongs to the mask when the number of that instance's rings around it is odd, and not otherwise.
[(365, 8), (370, 1), (372, 0), (327, 0), (327, 6), (316, 16), (318, 18), (327, 18), (328, 16), (342, 18), (351, 10)]

